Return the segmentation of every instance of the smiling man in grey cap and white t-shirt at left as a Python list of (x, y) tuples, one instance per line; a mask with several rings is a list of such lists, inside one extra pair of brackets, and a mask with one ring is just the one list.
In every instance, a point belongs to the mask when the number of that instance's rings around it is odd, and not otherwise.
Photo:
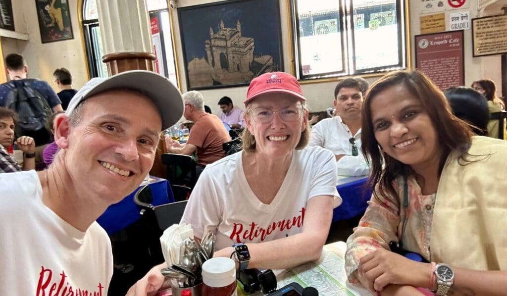
[(55, 119), (45, 171), (0, 175), (0, 294), (106, 295), (111, 242), (95, 222), (149, 173), (162, 129), (183, 114), (154, 72), (93, 79)]

